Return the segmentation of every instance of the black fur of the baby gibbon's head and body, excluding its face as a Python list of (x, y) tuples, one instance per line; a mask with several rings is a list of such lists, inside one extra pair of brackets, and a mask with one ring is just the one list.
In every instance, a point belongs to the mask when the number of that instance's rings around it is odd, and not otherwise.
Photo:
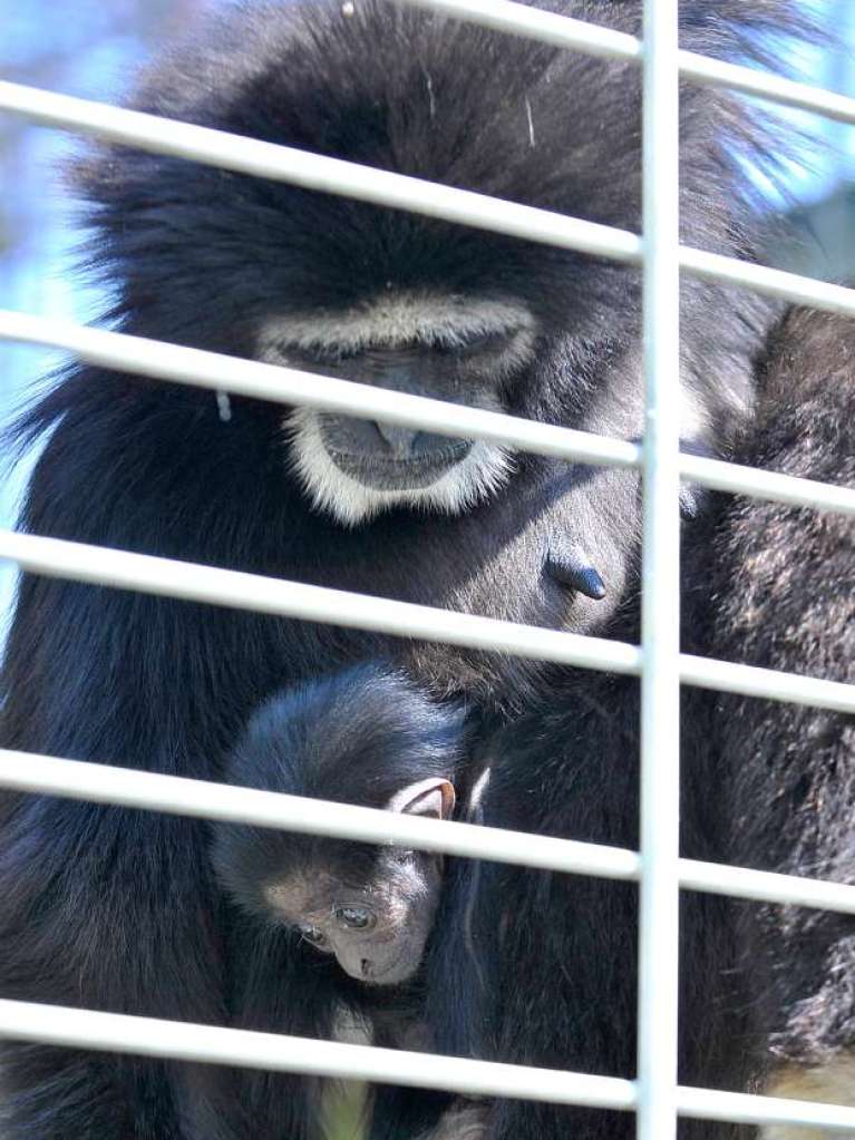
[[(245, 787), (375, 808), (435, 776), (455, 785), (465, 816), (463, 728), (461, 707), (430, 701), (382, 665), (358, 666), (274, 695), (253, 714), (227, 775)], [(230, 1025), (331, 1040), (344, 1019), (378, 1045), (426, 1045), (418, 977), (393, 987), (355, 980), (295, 930), (274, 926), (260, 897), (271, 873), (327, 869), (369, 883), (383, 873), (377, 858), (384, 854), (388, 848), (267, 828), (213, 828), (213, 864), (233, 899), (226, 914), (236, 968)], [(290, 1140), (317, 1134), (321, 1089), (311, 1078), (194, 1069), (188, 1131), (219, 1140), (268, 1134), (275, 1122)]]

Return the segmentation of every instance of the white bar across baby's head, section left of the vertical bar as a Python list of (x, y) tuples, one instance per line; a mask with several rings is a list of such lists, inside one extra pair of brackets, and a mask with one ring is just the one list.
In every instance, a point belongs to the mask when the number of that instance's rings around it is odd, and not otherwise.
[(279, 828), (300, 834), (396, 844), (416, 850), (442, 852), (568, 874), (594, 874), (603, 879), (632, 880), (640, 866), (638, 856), (621, 847), (581, 844), (472, 823), (418, 819), (399, 812), (10, 749), (0, 749), (0, 788), (97, 804), (121, 804), (142, 811), (168, 812), (170, 815)]

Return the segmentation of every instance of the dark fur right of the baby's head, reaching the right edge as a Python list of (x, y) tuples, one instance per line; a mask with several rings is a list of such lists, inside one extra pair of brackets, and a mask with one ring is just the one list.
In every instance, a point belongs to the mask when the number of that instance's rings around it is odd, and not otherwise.
[[(771, 339), (756, 423), (735, 458), (855, 487), (854, 423), (855, 323), (793, 311)], [(715, 496), (695, 528), (707, 543), (685, 552), (687, 651), (855, 679), (852, 516)], [(483, 746), (484, 822), (636, 847), (637, 724), (635, 681), (567, 676), (546, 707)], [(682, 854), (855, 881), (850, 715), (684, 689), (682, 724)], [(470, 888), (458, 889), (463, 901), (449, 905), (459, 911)], [(681, 926), (681, 1082), (774, 1092), (785, 1077), (790, 1096), (852, 1098), (845, 1077), (799, 1084), (808, 1068), (852, 1064), (852, 917), (686, 894)], [(466, 933), (480, 971), (459, 928), (438, 930), (432, 970), (448, 1008), (429, 1008), (446, 1051), (634, 1075), (634, 888), (484, 865)], [(486, 1137), (628, 1140), (634, 1126), (630, 1114), (497, 1101)], [(679, 1134), (749, 1131), (686, 1121)]]

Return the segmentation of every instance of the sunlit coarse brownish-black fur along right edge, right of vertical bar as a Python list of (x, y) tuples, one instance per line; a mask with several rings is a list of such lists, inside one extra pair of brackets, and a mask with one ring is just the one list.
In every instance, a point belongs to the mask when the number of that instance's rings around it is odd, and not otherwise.
[[(855, 487), (855, 321), (797, 311), (776, 349), (748, 462)], [(716, 653), (855, 683), (852, 516), (738, 500), (716, 548)], [(734, 862), (855, 882), (855, 718), (732, 697), (716, 716)], [(740, 933), (756, 1064), (852, 1053), (855, 919), (747, 907)]]

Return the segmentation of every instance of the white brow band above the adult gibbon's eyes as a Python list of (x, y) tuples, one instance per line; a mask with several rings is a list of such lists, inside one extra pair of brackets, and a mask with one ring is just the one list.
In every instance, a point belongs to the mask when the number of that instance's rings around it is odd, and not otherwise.
[(284, 314), (259, 328), (259, 350), (282, 355), (294, 349), (402, 348), (410, 344), (462, 345), (474, 336), (534, 334), (537, 324), (516, 301), (471, 300), (430, 293), (380, 295), (347, 309)]

